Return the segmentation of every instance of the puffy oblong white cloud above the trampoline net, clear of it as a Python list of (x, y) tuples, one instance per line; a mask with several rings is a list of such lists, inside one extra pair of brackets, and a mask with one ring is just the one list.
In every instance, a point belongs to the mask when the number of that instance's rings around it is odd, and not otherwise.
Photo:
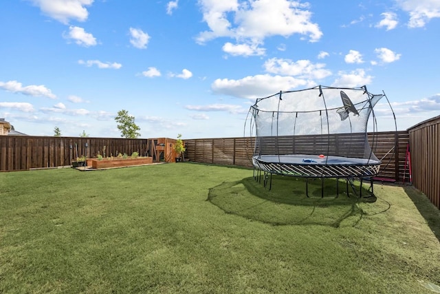
[(311, 63), (308, 60), (292, 61), (290, 59), (268, 59), (264, 65), (265, 71), (271, 74), (284, 76), (298, 76), (300, 78), (325, 78), (331, 72), (326, 70), (324, 63)]

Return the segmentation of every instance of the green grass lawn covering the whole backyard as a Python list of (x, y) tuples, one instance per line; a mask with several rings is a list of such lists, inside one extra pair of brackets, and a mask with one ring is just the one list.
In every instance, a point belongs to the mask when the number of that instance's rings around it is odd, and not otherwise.
[[(0, 173), (0, 293), (433, 293), (440, 213), (411, 187), (190, 162)], [(429, 215), (429, 218), (426, 216)], [(425, 216), (425, 218), (423, 218)], [(432, 284), (428, 284), (432, 283)]]

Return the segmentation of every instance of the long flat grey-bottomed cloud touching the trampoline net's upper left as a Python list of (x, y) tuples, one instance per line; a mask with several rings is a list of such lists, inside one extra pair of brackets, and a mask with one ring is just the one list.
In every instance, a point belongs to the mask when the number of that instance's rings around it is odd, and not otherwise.
[(276, 92), (292, 90), (298, 86), (311, 85), (309, 81), (292, 76), (272, 76), (259, 74), (239, 80), (217, 78), (211, 88), (214, 93), (241, 98), (261, 98)]

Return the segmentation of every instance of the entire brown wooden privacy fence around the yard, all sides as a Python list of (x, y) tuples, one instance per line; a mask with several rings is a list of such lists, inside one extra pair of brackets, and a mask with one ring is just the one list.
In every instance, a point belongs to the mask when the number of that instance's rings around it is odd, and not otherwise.
[[(301, 148), (316, 148), (322, 137), (309, 136)], [(287, 140), (287, 139), (286, 139)], [(300, 138), (298, 138), (300, 140)], [(153, 156), (155, 145), (173, 146), (175, 140), (78, 138), (47, 136), (0, 136), (0, 171), (20, 171), (41, 167), (72, 165), (77, 156), (94, 157), (118, 153)], [(369, 134), (370, 145), (382, 166), (379, 176), (409, 182), (406, 149), (410, 143), (412, 184), (440, 209), (440, 116), (426, 120), (408, 131)], [(153, 146), (154, 145), (154, 146)], [(163, 145), (163, 146), (162, 146)], [(309, 145), (309, 147), (307, 147)], [(219, 165), (251, 167), (254, 138), (210, 138), (185, 140), (186, 159)], [(395, 147), (395, 149), (393, 149)]]

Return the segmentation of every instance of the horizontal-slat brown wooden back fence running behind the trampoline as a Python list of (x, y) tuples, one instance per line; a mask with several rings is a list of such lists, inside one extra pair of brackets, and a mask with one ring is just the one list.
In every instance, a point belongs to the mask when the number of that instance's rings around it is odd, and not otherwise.
[[(254, 138), (185, 140), (186, 158), (195, 162), (252, 167), (250, 158), (252, 158), (254, 140)], [(292, 146), (300, 146), (302, 150), (309, 150), (310, 154), (314, 154), (313, 150), (317, 148), (317, 142), (322, 143), (326, 140), (327, 136), (319, 135), (283, 137), (284, 142), (292, 142)], [(380, 177), (403, 180), (408, 140), (406, 131), (369, 134), (370, 145), (377, 158), (382, 160)], [(318, 153), (320, 152), (322, 151)]]

